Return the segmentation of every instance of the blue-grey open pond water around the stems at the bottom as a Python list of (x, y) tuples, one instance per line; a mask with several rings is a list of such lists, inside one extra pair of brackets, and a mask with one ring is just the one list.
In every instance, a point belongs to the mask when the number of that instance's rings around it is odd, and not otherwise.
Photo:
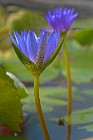
[[(88, 96), (88, 94), (83, 95), (82, 93), (87, 89), (93, 90), (93, 83), (82, 83), (77, 86), (75, 85), (75, 87), (77, 88), (76, 95), (78, 94), (80, 97), (84, 97), (84, 100), (73, 100), (72, 112), (92, 107), (93, 96)], [(90, 132), (86, 131), (86, 129), (80, 129), (80, 127), (92, 124), (93, 121), (86, 121), (74, 125), (68, 125), (67, 122), (64, 122), (63, 125), (59, 125), (58, 121), (60, 118), (64, 118), (67, 113), (66, 110), (67, 106), (55, 106), (52, 112), (44, 113), (51, 140), (82, 140), (84, 138), (93, 137), (92, 131)], [(91, 113), (90, 117), (93, 118), (93, 111), (86, 112), (86, 115), (88, 115), (88, 113)], [(54, 121), (52, 120), (53, 118), (58, 119)], [(26, 137), (27, 140), (44, 140), (36, 113), (28, 114), (27, 122), (25, 122), (23, 126), (21, 136)]]

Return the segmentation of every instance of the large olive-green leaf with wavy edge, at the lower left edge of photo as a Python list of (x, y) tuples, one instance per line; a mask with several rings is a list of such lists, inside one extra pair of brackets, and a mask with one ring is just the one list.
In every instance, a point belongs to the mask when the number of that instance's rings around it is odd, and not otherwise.
[(13, 81), (0, 68), (0, 122), (13, 131), (20, 131), (22, 104)]

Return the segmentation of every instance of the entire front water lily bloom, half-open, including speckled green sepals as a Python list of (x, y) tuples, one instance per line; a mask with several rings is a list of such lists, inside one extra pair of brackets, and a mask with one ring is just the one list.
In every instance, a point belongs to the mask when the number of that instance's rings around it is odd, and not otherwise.
[(41, 74), (58, 54), (62, 45), (58, 46), (59, 37), (60, 31), (49, 34), (42, 30), (39, 36), (33, 30), (14, 31), (14, 37), (10, 33), (17, 56), (33, 75)]

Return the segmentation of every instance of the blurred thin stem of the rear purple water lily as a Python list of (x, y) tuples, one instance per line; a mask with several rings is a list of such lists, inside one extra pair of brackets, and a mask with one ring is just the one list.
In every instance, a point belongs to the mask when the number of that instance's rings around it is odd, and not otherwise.
[(64, 60), (65, 60), (66, 73), (67, 73), (67, 85), (68, 85), (68, 115), (70, 115), (72, 111), (72, 88), (71, 88), (69, 58), (68, 58), (68, 52), (67, 52), (65, 41), (63, 43), (63, 50), (64, 50)]

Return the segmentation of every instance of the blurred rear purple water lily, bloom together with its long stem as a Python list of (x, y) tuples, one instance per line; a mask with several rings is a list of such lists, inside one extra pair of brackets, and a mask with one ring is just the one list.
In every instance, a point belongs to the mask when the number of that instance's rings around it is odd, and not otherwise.
[[(71, 76), (70, 76), (70, 66), (69, 66), (69, 57), (66, 47), (66, 34), (68, 30), (71, 29), (72, 23), (77, 18), (78, 13), (74, 13), (74, 8), (56, 8), (53, 12), (48, 11), (45, 15), (46, 21), (52, 27), (53, 30), (60, 31), (61, 35), (65, 33), (65, 41), (63, 43), (63, 53), (64, 61), (66, 65), (67, 73), (67, 85), (68, 85), (68, 115), (72, 111), (72, 88), (71, 88)], [(51, 30), (50, 30), (51, 32)]]

